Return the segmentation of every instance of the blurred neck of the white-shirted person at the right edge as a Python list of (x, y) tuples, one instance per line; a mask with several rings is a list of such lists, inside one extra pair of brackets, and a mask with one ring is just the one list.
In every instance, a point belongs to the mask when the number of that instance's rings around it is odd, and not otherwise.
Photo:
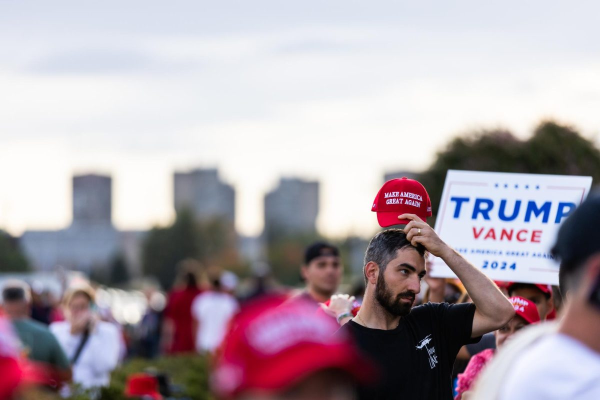
[(600, 354), (600, 314), (593, 307), (571, 306), (560, 322), (559, 332), (571, 336)]

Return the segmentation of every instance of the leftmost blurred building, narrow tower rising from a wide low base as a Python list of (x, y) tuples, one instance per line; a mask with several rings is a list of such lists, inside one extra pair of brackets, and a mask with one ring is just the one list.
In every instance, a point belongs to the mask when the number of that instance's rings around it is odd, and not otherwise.
[(73, 221), (61, 230), (28, 230), (20, 246), (37, 270), (56, 266), (91, 273), (107, 271), (123, 257), (132, 275), (141, 271), (143, 231), (118, 231), (112, 223), (112, 179), (102, 175), (73, 177)]

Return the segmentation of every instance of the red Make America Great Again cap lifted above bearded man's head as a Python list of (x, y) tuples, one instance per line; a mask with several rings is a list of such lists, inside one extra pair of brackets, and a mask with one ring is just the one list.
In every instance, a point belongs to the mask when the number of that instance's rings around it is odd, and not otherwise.
[(409, 219), (398, 219), (398, 215), (404, 213), (416, 214), (427, 221), (427, 217), (431, 216), (431, 201), (423, 185), (403, 176), (383, 184), (373, 200), (371, 211), (377, 212), (377, 222), (385, 228), (408, 224)]

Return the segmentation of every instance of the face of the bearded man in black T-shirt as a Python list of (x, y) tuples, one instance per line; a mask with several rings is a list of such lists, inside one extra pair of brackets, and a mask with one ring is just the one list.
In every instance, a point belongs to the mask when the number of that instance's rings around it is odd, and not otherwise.
[(392, 315), (407, 315), (421, 291), (425, 276), (425, 258), (415, 248), (406, 247), (396, 252), (396, 258), (379, 273), (375, 299)]

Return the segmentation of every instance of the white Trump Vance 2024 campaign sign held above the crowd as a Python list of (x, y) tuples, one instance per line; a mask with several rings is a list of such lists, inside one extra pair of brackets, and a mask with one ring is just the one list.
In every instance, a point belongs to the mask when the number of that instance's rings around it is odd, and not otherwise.
[[(590, 176), (449, 170), (435, 230), (491, 279), (557, 285), (550, 248), (591, 185)], [(431, 276), (456, 275), (431, 257)]]

